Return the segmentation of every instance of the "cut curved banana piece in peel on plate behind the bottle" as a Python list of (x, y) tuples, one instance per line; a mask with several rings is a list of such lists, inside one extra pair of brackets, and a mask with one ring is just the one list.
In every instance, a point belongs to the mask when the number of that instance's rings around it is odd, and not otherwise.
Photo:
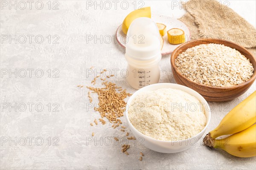
[(132, 11), (125, 17), (125, 20), (122, 23), (122, 31), (127, 34), (128, 28), (131, 25), (132, 21), (139, 17), (148, 17), (151, 18), (151, 9), (150, 7), (140, 8)]

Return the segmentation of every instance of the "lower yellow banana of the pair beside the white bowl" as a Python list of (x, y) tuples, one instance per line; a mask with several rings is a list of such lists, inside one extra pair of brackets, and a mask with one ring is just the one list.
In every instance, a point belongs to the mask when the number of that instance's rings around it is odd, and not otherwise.
[(233, 156), (243, 158), (256, 156), (256, 125), (224, 139), (213, 139), (210, 147), (221, 148)]

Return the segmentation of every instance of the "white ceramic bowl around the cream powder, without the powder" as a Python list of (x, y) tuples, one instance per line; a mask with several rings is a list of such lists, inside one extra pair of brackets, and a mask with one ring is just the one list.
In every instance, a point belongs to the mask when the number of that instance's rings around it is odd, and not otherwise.
[[(200, 133), (198, 133), (195, 136), (192, 136), (189, 139), (186, 140), (181, 140), (181, 141), (161, 141), (157, 139), (153, 139), (149, 136), (145, 136), (144, 134), (140, 133), (130, 122), (129, 117), (128, 117), (128, 106), (131, 104), (131, 101), (134, 99), (135, 96), (137, 96), (139, 93), (143, 91), (154, 91), (160, 88), (173, 88), (173, 89), (179, 89), (182, 91), (187, 92), (188, 94), (191, 94), (192, 96), (195, 96), (201, 103), (204, 103), (202, 106), (204, 107), (205, 110), (205, 115), (207, 117), (207, 123), (206, 126), (204, 127), (203, 130), (201, 130)], [(148, 85), (144, 88), (141, 88), (140, 90), (136, 91), (128, 100), (126, 109), (125, 109), (125, 116), (128, 122), (128, 125), (134, 134), (134, 136), (137, 139), (140, 139), (140, 141), (144, 140), (141, 144), (144, 144), (145, 147), (148, 147), (151, 150), (161, 152), (161, 153), (177, 153), (181, 152), (183, 150), (189, 149), (189, 147), (194, 146), (203, 136), (207, 126), (209, 125), (210, 122), (210, 117), (211, 117), (211, 112), (209, 111), (208, 103), (202, 97), (198, 92), (192, 90), (191, 88), (188, 88), (183, 85), (178, 85), (178, 84), (173, 84), (173, 83), (157, 83), (153, 85)]]

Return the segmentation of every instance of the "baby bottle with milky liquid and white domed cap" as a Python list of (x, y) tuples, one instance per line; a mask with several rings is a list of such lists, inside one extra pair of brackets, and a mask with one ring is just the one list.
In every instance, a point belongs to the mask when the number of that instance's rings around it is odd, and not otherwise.
[(125, 59), (128, 62), (127, 82), (135, 89), (157, 83), (160, 79), (160, 34), (151, 18), (135, 19), (127, 32)]

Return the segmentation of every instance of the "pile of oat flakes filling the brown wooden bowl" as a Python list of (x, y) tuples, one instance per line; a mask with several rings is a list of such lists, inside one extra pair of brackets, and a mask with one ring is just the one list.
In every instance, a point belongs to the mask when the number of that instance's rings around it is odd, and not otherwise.
[(236, 49), (220, 44), (188, 48), (175, 60), (178, 71), (202, 85), (230, 87), (249, 80), (253, 65)]

